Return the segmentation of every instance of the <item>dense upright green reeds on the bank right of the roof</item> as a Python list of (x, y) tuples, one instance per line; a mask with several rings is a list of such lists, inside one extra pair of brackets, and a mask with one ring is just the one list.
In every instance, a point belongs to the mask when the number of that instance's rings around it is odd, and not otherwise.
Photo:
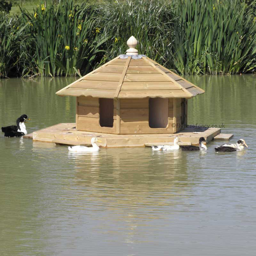
[(256, 68), (256, 22), (239, 0), (176, 1), (174, 68), (184, 74), (248, 72)]

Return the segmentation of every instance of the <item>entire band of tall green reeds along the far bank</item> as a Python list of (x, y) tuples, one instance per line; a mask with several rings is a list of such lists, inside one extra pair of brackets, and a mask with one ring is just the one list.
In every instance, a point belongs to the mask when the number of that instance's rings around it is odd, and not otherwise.
[(0, 77), (84, 75), (138, 51), (180, 74), (256, 70), (255, 1), (126, 0), (36, 6), (0, 15)]

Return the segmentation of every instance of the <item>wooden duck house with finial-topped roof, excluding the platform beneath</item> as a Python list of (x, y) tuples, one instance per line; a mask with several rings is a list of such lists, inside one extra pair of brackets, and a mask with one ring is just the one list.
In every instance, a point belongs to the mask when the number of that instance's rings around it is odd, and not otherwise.
[(169, 134), (187, 124), (187, 100), (204, 90), (138, 55), (120, 55), (61, 89), (76, 97), (76, 129), (106, 134)]

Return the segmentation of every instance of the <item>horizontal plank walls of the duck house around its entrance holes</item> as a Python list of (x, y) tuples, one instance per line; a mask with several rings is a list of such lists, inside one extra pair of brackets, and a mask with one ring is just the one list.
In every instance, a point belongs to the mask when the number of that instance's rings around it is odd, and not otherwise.
[[(120, 102), (120, 115), (117, 120)], [(181, 99), (175, 99), (176, 116), (174, 116), (174, 99), (168, 101), (168, 125), (166, 128), (150, 128), (149, 98), (143, 99), (119, 99), (114, 100), (114, 123), (113, 127), (101, 127), (99, 124), (99, 98), (80, 96), (77, 98), (77, 128), (80, 131), (102, 132), (117, 134), (161, 134), (178, 131), (172, 127), (173, 122), (181, 122)], [(120, 122), (120, 128), (117, 123)]]

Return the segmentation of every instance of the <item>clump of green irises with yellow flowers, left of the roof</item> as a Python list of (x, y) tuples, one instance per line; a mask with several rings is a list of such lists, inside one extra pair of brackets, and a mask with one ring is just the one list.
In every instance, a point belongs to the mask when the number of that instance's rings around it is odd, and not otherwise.
[(49, 7), (42, 4), (34, 14), (23, 10), (22, 18), (30, 33), (23, 76), (85, 74), (101, 61), (107, 38), (100, 35), (92, 6), (78, 6), (73, 1)]

